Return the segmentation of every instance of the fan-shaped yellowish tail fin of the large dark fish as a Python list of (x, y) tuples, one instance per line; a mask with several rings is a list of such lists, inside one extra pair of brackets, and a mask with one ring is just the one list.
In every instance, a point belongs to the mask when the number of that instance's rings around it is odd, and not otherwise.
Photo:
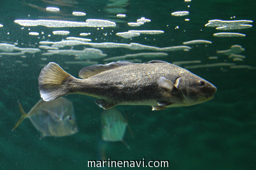
[(67, 78), (74, 78), (54, 62), (48, 63), (38, 77), (39, 91), (42, 100), (51, 101), (67, 94), (61, 87)]

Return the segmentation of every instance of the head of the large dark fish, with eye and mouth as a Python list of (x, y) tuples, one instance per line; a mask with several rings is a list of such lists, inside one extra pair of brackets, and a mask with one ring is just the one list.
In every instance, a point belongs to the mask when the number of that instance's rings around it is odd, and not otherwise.
[(195, 105), (211, 100), (217, 90), (213, 84), (196, 75), (180, 77), (178, 86), (187, 105)]

